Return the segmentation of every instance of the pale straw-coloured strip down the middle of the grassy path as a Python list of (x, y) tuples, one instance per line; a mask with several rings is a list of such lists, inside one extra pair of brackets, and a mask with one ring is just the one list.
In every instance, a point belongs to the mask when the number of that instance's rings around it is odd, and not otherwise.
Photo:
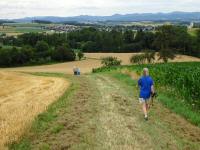
[(96, 76), (101, 94), (99, 99), (97, 145), (101, 149), (152, 149), (149, 136), (140, 127), (140, 123), (131, 109), (131, 100), (126, 91), (108, 77)]

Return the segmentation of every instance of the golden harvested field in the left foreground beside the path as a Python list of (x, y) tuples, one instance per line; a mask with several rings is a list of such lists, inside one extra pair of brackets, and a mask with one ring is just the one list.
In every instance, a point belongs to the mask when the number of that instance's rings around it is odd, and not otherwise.
[(17, 140), (69, 83), (60, 78), (0, 72), (0, 149)]

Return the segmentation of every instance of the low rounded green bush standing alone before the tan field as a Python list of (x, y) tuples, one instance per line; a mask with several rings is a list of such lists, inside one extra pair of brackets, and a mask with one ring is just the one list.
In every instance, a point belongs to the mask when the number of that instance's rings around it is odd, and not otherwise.
[(121, 60), (118, 60), (117, 57), (104, 57), (102, 58), (101, 64), (104, 66), (119, 66), (121, 65)]

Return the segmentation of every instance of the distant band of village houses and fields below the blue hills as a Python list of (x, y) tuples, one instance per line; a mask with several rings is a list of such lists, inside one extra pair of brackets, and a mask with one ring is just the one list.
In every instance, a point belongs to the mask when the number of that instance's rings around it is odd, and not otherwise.
[[(32, 22), (32, 23), (39, 23), (41, 26), (33, 26), (30, 27), (29, 26), (25, 26), (26, 24), (23, 25), (23, 27), (20, 26), (16, 26), (17, 23), (4, 23), (4, 22), (0, 22), (0, 36), (17, 36), (21, 33), (25, 33), (25, 32), (20, 32), (23, 30), (36, 30), (38, 29), (38, 32), (44, 32), (44, 33), (69, 33), (69, 32), (73, 32), (73, 31), (80, 31), (83, 28), (87, 28), (87, 27), (94, 27), (96, 29), (98, 29), (99, 31), (112, 31), (112, 30), (116, 30), (116, 31), (122, 31), (125, 32), (127, 30), (131, 30), (131, 31), (155, 31), (159, 26), (166, 24), (165, 22), (155, 22), (155, 23), (148, 23), (148, 22), (95, 22), (95, 23), (91, 23), (91, 22), (84, 22), (84, 23), (60, 23), (60, 24), (53, 24), (51, 22)], [(188, 29), (192, 29), (192, 28), (200, 28), (200, 21), (191, 21), (191, 22), (171, 22), (168, 24), (172, 24), (172, 25), (181, 25), (181, 26), (185, 26)], [(42, 29), (42, 30), (41, 30)], [(19, 30), (18, 32), (16, 32), (17, 30)], [(6, 31), (9, 31), (8, 33)], [(13, 31), (13, 33), (11, 32)], [(16, 33), (15, 33), (16, 32)]]

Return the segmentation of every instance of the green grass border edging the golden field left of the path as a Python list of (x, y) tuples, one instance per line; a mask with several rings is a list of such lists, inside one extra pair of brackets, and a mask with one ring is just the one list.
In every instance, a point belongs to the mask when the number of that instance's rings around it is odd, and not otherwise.
[[(49, 77), (60, 77), (67, 78), (64, 74), (60, 73), (31, 73), (37, 76), (49, 76)], [(50, 128), (50, 124), (55, 121), (59, 115), (59, 112), (63, 109), (67, 110), (70, 107), (72, 102), (72, 95), (79, 88), (78, 84), (72, 83), (71, 86), (65, 91), (65, 93), (53, 104), (51, 104), (48, 109), (38, 115), (35, 118), (35, 121), (32, 124), (30, 131), (28, 131), (24, 137), (18, 142), (11, 143), (8, 145), (11, 150), (30, 150), (31, 149), (31, 141), (34, 138), (37, 138), (44, 131)], [(57, 133), (62, 130), (61, 126), (56, 126), (52, 129), (53, 133)]]

